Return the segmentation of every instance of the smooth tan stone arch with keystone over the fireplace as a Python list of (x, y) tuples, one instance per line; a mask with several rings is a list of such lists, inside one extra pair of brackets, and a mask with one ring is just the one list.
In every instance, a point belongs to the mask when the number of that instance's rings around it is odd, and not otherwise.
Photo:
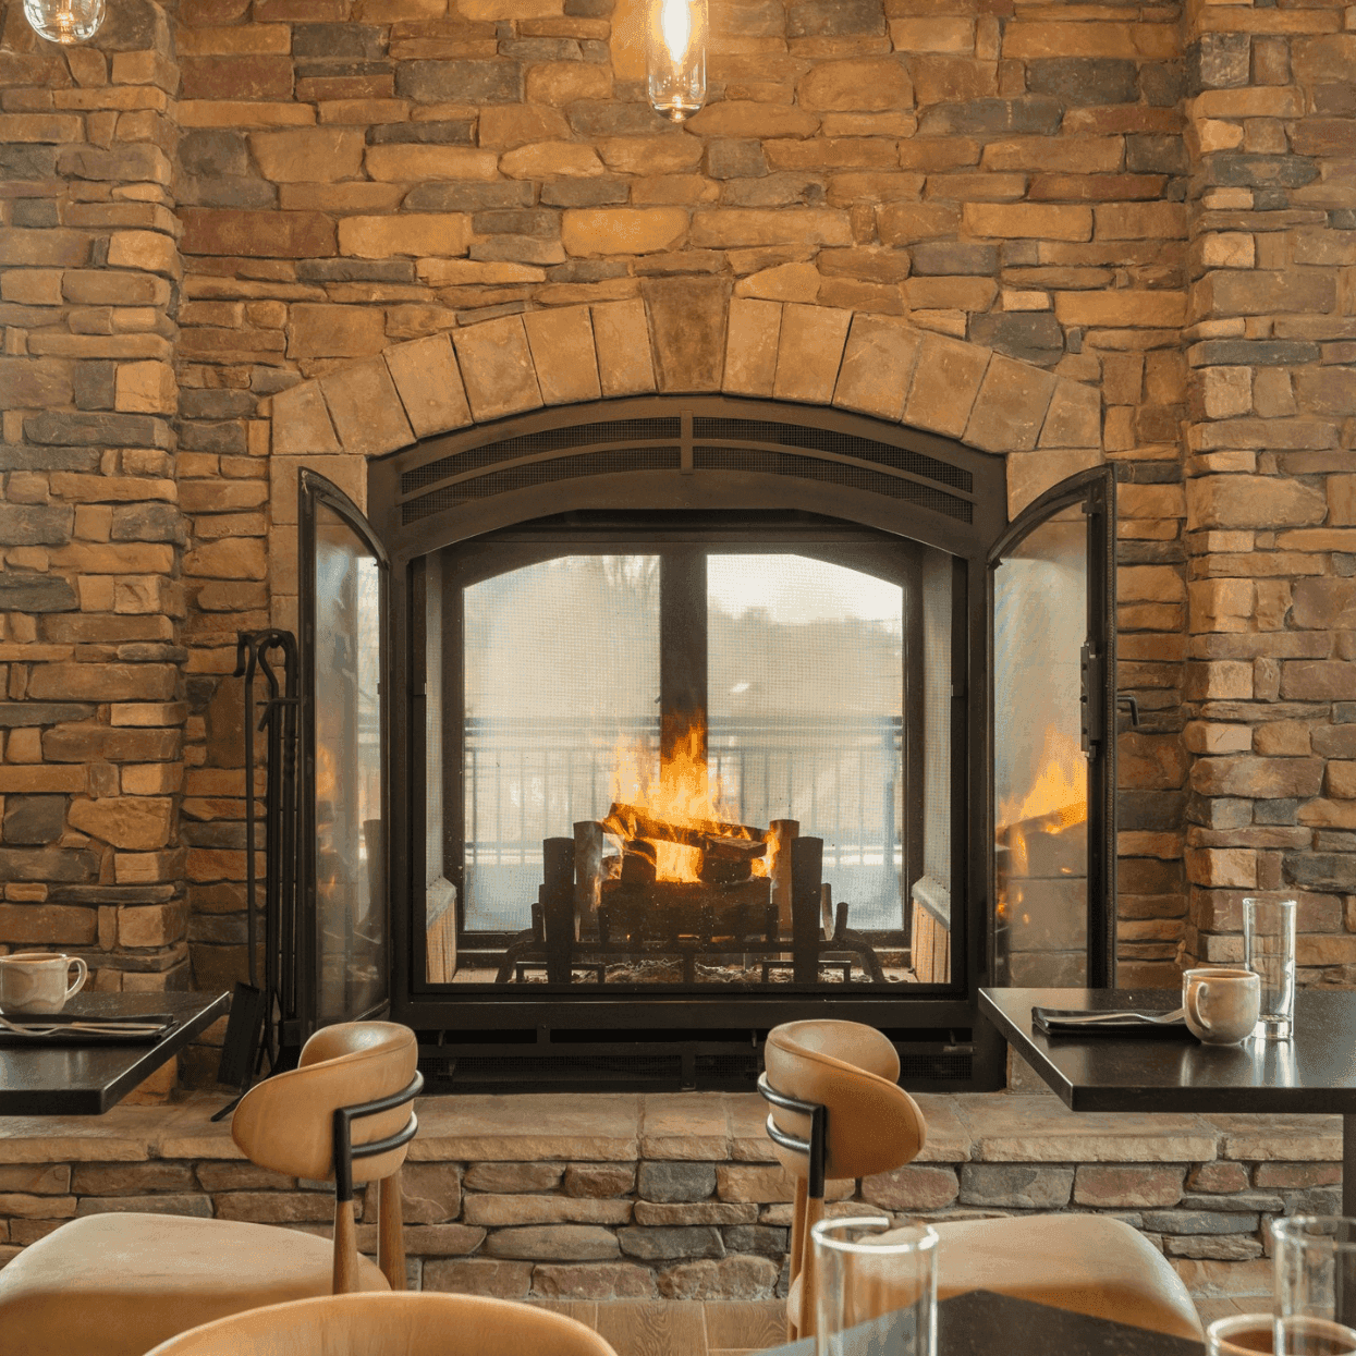
[(411, 339), (274, 396), (275, 622), (294, 624), (301, 466), (366, 507), (372, 457), (551, 405), (652, 393), (834, 405), (956, 438), (1006, 458), (1009, 514), (1104, 458), (1096, 386), (887, 316), (663, 279), (644, 297)]

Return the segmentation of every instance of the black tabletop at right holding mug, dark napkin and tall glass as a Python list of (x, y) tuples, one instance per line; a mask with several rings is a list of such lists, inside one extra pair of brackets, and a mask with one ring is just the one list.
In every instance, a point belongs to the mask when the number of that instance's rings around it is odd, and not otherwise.
[(1032, 1008), (1172, 1012), (1170, 989), (980, 989), (979, 1010), (1070, 1111), (1290, 1112), (1342, 1117), (1342, 1214), (1356, 1215), (1356, 991), (1302, 989), (1295, 1036), (1043, 1036)]

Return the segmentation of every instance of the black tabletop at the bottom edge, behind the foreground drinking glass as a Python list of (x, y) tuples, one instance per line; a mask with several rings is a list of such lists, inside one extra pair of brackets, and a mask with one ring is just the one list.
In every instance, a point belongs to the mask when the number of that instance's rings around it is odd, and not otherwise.
[[(877, 1356), (869, 1342), (860, 1356)], [(1201, 1342), (1109, 1318), (1089, 1318), (1029, 1299), (972, 1290), (937, 1306), (937, 1356), (1201, 1356)], [(845, 1344), (848, 1356), (857, 1356)], [(763, 1356), (814, 1356), (812, 1338)]]

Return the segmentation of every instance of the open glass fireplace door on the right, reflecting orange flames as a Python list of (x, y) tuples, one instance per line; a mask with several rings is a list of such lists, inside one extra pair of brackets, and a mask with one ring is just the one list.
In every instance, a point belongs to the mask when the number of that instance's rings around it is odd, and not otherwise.
[(1115, 480), (1032, 504), (993, 570), (994, 979), (1111, 982), (1115, 918)]

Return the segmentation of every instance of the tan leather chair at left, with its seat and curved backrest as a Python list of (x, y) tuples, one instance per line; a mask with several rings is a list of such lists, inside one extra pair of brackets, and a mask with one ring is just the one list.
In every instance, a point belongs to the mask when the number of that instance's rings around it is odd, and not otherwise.
[[(175, 1333), (245, 1309), (403, 1290), (400, 1166), (418, 1127), (416, 1058), (405, 1026), (325, 1026), (306, 1041), (297, 1069), (252, 1088), (236, 1108), (231, 1134), (254, 1162), (287, 1177), (335, 1180), (332, 1242), (179, 1215), (71, 1220), (0, 1272), (0, 1356), (142, 1356)], [(357, 1249), (353, 1184), (367, 1181), (380, 1182), (380, 1267)]]

